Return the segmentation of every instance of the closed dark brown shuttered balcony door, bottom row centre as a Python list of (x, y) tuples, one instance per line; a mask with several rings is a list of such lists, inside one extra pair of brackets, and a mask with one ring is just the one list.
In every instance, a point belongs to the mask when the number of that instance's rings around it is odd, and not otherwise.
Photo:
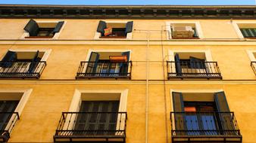
[(79, 135), (114, 135), (119, 101), (83, 101), (74, 133)]

